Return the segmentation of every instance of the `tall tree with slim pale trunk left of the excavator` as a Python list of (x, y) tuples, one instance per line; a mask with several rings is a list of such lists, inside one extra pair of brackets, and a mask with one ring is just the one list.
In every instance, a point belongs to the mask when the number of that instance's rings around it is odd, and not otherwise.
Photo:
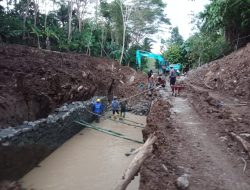
[(121, 46), (120, 62), (125, 61), (123, 54), (129, 45), (142, 44), (146, 37), (158, 31), (160, 23), (169, 23), (164, 15), (165, 4), (161, 0), (111, 3), (102, 0), (100, 5), (101, 13), (111, 28), (111, 40)]

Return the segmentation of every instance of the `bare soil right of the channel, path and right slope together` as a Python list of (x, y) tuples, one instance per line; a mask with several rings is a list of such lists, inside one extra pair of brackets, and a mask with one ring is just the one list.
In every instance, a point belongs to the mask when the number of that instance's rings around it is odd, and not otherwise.
[(191, 71), (179, 97), (158, 92), (143, 133), (158, 140), (141, 168), (141, 190), (182, 189), (177, 181), (185, 180), (189, 189), (250, 189), (249, 156), (230, 136), (250, 134), (249, 50)]

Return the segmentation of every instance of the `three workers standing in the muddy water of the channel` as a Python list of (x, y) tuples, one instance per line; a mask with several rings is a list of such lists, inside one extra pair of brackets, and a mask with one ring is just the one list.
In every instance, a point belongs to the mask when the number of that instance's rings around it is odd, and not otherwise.
[[(112, 102), (111, 102), (111, 109), (113, 112), (113, 118), (116, 119), (116, 116), (120, 116), (120, 118), (125, 118), (126, 111), (127, 111), (127, 100), (124, 99), (124, 96), (122, 96), (121, 101), (117, 99), (116, 96), (114, 96)], [(95, 117), (95, 121), (99, 122), (100, 117), (102, 116), (104, 111), (104, 105), (101, 103), (100, 99), (97, 99), (92, 106), (92, 112)], [(117, 115), (116, 115), (117, 114)]]

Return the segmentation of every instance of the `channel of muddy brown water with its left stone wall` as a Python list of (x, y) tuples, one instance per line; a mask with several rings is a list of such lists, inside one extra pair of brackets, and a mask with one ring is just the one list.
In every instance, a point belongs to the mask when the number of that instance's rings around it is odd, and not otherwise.
[[(19, 179), (27, 190), (113, 189), (133, 159), (125, 154), (141, 144), (75, 123), (92, 122), (92, 114), (86, 111), (92, 101), (66, 104), (46, 119), (0, 131), (0, 177)], [(107, 103), (105, 98), (102, 101)], [(126, 119), (146, 124), (145, 116), (127, 113)], [(142, 128), (128, 120), (104, 117), (92, 125), (142, 141)], [(136, 177), (128, 189), (138, 187)]]

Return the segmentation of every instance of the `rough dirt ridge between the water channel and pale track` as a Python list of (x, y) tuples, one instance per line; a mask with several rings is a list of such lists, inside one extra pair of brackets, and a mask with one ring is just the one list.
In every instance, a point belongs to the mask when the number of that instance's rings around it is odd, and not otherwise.
[[(176, 189), (175, 163), (170, 162), (176, 154), (178, 137), (170, 120), (170, 104), (162, 99), (153, 103), (143, 130), (146, 140), (150, 134), (157, 136), (153, 154), (147, 158), (140, 170), (140, 190)], [(166, 138), (168, 137), (168, 138)]]

